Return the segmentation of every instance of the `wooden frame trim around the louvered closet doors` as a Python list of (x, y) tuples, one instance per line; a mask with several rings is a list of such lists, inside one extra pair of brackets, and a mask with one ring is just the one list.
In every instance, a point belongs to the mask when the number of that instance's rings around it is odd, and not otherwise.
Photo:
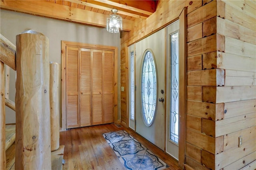
[(118, 47), (61, 41), (61, 131), (66, 131), (66, 46), (114, 51), (114, 123), (118, 123)]

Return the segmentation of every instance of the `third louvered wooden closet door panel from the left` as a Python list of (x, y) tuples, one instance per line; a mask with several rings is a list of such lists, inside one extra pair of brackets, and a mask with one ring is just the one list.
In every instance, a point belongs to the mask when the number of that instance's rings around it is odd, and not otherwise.
[(92, 50), (92, 125), (103, 123), (102, 114), (102, 50)]

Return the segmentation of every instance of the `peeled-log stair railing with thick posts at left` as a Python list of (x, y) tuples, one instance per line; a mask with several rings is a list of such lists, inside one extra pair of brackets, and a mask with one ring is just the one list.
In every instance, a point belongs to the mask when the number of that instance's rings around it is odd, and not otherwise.
[[(16, 111), (15, 169), (51, 169), (51, 150), (59, 148), (60, 110), (59, 65), (49, 64), (49, 40), (28, 30), (16, 36), (17, 49), (2, 35), (0, 45), (0, 167), (6, 167), (8, 106)], [(10, 68), (17, 75), (15, 103), (8, 98)]]

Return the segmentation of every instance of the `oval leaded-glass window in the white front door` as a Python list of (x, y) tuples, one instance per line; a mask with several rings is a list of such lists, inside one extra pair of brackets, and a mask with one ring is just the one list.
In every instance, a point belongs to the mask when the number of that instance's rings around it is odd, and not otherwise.
[(145, 125), (150, 126), (156, 112), (156, 65), (149, 50), (144, 52), (141, 75), (142, 117)]

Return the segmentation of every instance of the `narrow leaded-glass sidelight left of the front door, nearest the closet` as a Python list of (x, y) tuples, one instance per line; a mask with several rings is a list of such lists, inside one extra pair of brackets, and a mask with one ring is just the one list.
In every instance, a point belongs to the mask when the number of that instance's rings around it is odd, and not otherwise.
[(135, 100), (135, 80), (134, 80), (134, 51), (130, 52), (130, 119), (134, 120), (134, 100)]

